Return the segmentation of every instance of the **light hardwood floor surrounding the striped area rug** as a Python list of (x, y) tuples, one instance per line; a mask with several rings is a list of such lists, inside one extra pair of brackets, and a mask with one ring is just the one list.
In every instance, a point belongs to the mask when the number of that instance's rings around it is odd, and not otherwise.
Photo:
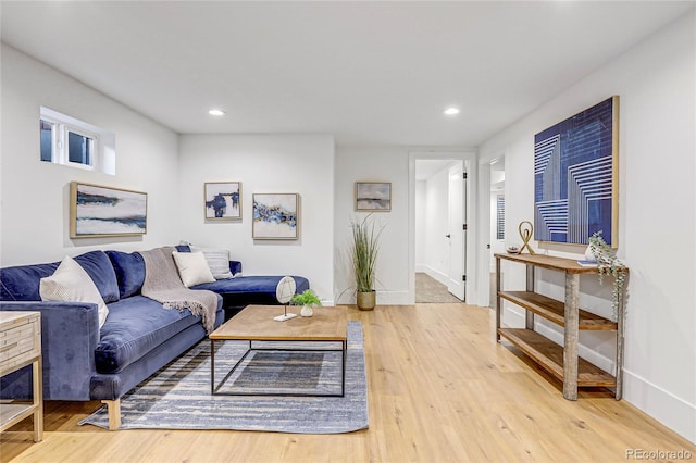
[(370, 429), (344, 435), (108, 431), (77, 422), (98, 402), (48, 402), (0, 437), (0, 460), (36, 462), (620, 462), (696, 446), (602, 389), (560, 383), (494, 338), (493, 311), (465, 304), (348, 308), (363, 324)]

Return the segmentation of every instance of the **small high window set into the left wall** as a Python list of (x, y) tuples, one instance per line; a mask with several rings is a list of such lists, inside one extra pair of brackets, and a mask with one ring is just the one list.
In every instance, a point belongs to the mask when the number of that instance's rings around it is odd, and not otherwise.
[(115, 135), (41, 107), (40, 160), (115, 174)]

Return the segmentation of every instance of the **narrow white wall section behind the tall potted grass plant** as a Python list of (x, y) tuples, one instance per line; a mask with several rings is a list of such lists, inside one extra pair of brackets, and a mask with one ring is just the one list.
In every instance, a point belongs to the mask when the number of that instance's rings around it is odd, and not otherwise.
[[(353, 204), (356, 182), (390, 182), (391, 211), (372, 217), (383, 226), (376, 267), (378, 304), (412, 303), (409, 297), (409, 157), (400, 147), (337, 147), (335, 170), (335, 293), (355, 303), (355, 279), (347, 251), (351, 217), (364, 217)], [(411, 275), (412, 276), (412, 275)], [(412, 278), (411, 278), (412, 279)], [(412, 291), (411, 291), (412, 292)], [(409, 299), (410, 298), (410, 299)]]

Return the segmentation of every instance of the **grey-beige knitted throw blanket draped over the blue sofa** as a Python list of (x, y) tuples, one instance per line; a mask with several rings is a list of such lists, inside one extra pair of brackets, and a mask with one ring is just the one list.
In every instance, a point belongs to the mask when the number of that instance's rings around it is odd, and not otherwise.
[(139, 252), (145, 260), (142, 296), (160, 302), (164, 309), (176, 309), (179, 312), (188, 309), (194, 315), (201, 316), (206, 331), (211, 334), (215, 323), (217, 295), (184, 286), (172, 256), (174, 250), (173, 247), (165, 247)]

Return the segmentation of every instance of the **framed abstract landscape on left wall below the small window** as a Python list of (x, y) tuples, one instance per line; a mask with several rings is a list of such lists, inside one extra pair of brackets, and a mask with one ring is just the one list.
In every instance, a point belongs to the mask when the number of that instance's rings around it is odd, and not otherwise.
[(70, 237), (145, 235), (148, 195), (71, 182)]

